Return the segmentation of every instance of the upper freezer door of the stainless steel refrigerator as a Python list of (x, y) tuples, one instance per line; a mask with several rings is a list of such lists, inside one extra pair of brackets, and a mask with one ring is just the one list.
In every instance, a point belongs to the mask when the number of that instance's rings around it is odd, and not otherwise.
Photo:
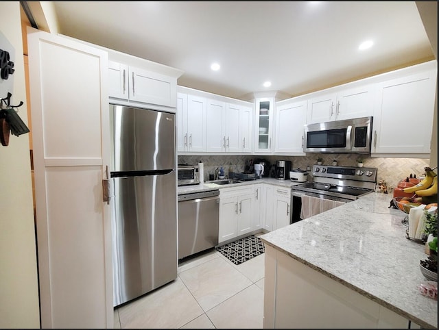
[(110, 104), (112, 172), (176, 168), (175, 114)]

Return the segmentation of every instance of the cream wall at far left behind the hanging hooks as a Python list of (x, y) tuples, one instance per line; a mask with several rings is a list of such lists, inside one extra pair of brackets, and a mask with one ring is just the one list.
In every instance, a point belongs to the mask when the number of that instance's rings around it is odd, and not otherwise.
[[(15, 50), (11, 103), (25, 102), (19, 116), (27, 124), (19, 1), (0, 2), (0, 31)], [(29, 138), (11, 135), (0, 145), (0, 328), (39, 327)]]

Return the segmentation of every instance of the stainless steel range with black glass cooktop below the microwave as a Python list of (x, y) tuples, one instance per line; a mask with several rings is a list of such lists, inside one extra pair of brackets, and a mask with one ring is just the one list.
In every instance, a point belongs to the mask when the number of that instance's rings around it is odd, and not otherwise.
[(300, 197), (318, 197), (349, 202), (375, 190), (377, 168), (313, 165), (313, 181), (292, 186), (292, 223), (301, 220)]

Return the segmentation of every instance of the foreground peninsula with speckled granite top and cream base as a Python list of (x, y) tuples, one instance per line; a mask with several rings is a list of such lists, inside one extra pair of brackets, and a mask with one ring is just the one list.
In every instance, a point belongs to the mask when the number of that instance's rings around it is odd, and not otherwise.
[(425, 246), (390, 199), (372, 192), (260, 236), (264, 328), (438, 327), (438, 302), (418, 290)]

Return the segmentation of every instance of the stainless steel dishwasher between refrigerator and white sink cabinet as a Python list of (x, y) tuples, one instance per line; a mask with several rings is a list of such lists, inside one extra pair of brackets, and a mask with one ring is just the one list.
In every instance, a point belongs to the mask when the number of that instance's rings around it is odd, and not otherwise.
[(178, 196), (178, 259), (218, 244), (219, 190)]

